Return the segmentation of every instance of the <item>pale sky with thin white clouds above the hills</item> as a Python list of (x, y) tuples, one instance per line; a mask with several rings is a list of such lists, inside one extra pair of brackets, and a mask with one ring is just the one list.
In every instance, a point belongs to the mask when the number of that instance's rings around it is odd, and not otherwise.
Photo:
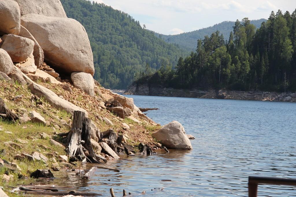
[[(93, 0), (91, 0), (93, 1)], [(236, 19), (267, 19), (296, 9), (296, 0), (95, 0), (128, 13), (146, 28), (175, 35)]]

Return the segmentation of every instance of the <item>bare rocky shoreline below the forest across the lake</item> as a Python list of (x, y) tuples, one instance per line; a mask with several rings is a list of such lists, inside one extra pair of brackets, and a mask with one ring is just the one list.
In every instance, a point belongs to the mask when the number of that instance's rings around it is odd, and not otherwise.
[(148, 84), (132, 84), (125, 95), (190, 97), (208, 99), (258, 100), (258, 101), (284, 101), (296, 102), (296, 92), (262, 92), (262, 91), (232, 91), (221, 89), (219, 91), (198, 89), (173, 89), (161, 86), (150, 87)]

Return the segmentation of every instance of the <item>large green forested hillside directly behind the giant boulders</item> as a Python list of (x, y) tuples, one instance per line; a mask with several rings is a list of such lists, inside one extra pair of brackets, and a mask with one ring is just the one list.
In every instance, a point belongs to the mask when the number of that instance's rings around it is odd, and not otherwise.
[(87, 0), (61, 2), (67, 16), (85, 27), (94, 55), (94, 78), (104, 87), (126, 88), (146, 65), (157, 70), (162, 62), (176, 65), (180, 56), (188, 55), (110, 6)]

